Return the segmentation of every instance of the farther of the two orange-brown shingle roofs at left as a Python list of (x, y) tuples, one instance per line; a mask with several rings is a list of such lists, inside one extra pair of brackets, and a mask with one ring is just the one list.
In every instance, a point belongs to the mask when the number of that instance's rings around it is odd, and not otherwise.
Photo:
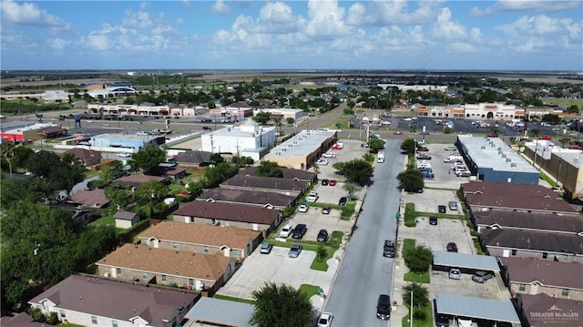
[(233, 227), (188, 224), (179, 221), (161, 221), (158, 225), (145, 230), (140, 239), (156, 238), (187, 244), (210, 246), (226, 245), (230, 249), (245, 249), (249, 240), (256, 240), (261, 231), (241, 230)]

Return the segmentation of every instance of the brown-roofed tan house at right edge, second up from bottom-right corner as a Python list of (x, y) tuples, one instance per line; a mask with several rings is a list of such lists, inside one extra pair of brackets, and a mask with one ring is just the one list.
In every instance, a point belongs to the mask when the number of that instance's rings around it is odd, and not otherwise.
[(517, 294), (547, 294), (583, 301), (583, 263), (500, 258), (508, 288)]

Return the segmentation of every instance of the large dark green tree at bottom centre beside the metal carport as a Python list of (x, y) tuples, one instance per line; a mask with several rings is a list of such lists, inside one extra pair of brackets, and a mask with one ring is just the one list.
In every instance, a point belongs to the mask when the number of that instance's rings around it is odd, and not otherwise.
[(292, 286), (270, 282), (251, 292), (255, 310), (250, 323), (259, 327), (301, 327), (312, 322), (312, 302)]

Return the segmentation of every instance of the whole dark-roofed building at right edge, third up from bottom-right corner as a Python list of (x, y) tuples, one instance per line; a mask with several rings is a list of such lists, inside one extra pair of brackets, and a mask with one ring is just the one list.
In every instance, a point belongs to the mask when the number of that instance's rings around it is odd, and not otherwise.
[(488, 255), (583, 262), (581, 237), (531, 230), (482, 230), (480, 243)]

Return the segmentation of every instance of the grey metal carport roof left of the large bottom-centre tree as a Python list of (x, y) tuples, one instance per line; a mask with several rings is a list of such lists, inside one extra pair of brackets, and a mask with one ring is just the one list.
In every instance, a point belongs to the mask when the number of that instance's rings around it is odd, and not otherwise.
[(201, 297), (185, 315), (196, 322), (220, 323), (221, 326), (252, 327), (252, 304)]

